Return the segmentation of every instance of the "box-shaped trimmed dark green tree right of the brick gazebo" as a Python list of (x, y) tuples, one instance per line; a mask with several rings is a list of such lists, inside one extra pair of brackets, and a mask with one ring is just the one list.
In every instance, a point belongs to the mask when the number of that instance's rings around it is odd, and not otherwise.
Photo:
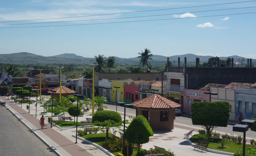
[(227, 101), (193, 102), (191, 104), (192, 123), (201, 125), (209, 136), (213, 128), (227, 127), (229, 110)]

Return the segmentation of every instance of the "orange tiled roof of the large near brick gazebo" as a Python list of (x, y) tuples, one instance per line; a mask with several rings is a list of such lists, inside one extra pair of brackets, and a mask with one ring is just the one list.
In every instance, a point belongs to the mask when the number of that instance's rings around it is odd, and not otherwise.
[(150, 109), (173, 109), (181, 107), (171, 100), (168, 100), (160, 95), (152, 95), (142, 100), (131, 103), (136, 108), (150, 108)]

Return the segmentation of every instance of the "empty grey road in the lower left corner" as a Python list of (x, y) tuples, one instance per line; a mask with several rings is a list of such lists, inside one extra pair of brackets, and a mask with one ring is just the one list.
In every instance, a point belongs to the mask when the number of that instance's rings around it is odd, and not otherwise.
[(0, 106), (0, 156), (56, 156), (10, 111)]

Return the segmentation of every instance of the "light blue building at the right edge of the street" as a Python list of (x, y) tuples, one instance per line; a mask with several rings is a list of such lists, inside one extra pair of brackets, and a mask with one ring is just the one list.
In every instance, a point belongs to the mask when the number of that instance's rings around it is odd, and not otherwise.
[(252, 88), (237, 87), (235, 90), (235, 113), (236, 119), (242, 112), (244, 119), (252, 119), (256, 117), (256, 88), (255, 84)]

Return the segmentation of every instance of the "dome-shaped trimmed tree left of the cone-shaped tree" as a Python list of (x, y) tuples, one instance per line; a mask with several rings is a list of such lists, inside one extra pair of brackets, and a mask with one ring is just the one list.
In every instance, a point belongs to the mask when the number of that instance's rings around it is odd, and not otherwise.
[(93, 116), (92, 123), (106, 129), (106, 138), (108, 138), (110, 128), (122, 125), (122, 117), (115, 111), (97, 111)]

